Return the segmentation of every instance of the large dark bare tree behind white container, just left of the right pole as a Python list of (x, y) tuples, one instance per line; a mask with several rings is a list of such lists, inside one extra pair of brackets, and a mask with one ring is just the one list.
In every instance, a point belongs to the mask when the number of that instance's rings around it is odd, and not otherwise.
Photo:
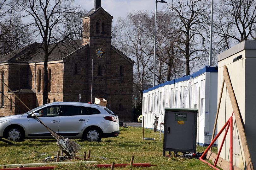
[(189, 75), (190, 61), (194, 61), (192, 68), (195, 64), (200, 67), (208, 56), (209, 3), (207, 0), (175, 0), (168, 8), (177, 16), (177, 32), (174, 34), (181, 35), (177, 47), (184, 56), (186, 75)]

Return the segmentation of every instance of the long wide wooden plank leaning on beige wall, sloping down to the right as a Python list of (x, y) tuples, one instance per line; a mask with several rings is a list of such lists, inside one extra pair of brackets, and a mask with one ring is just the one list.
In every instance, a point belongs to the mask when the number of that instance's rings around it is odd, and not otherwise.
[(240, 139), (241, 139), (241, 143), (242, 143), (242, 147), (243, 147), (243, 151), (244, 151), (245, 162), (246, 162), (246, 165), (252, 165), (252, 166), (250, 166), (250, 168), (253, 170), (253, 163), (252, 163), (249, 148), (247, 145), (246, 135), (245, 135), (245, 131), (244, 131), (244, 125), (243, 125), (243, 122), (241, 119), (241, 114), (240, 114), (238, 104), (236, 101), (236, 96), (235, 96), (235, 93), (234, 93), (234, 90), (233, 90), (233, 87), (231, 84), (228, 69), (225, 65), (224, 65), (224, 70), (223, 70), (223, 76), (224, 76), (226, 87), (227, 87), (227, 90), (229, 93), (229, 98), (231, 101), (232, 109), (234, 111), (236, 126), (237, 126), (238, 133), (240, 135)]

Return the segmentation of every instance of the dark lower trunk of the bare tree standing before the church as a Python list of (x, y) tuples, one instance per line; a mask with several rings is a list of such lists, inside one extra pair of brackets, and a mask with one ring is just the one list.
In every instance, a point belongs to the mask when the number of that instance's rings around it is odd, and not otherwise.
[(48, 100), (48, 52), (45, 51), (44, 56), (44, 78), (43, 78), (43, 104), (47, 104)]

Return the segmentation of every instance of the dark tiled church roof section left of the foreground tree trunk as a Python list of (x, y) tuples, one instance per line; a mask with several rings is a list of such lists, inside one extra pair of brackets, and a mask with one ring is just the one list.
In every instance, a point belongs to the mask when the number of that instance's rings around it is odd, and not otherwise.
[(0, 62), (28, 62), (43, 50), (43, 43), (32, 43), (26, 47), (0, 56)]

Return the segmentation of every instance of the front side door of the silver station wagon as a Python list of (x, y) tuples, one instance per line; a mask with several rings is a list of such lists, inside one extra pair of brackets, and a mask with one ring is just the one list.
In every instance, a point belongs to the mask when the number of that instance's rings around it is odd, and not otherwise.
[[(59, 132), (59, 122), (60, 122), (60, 105), (53, 105), (41, 108), (40, 110), (35, 111), (36, 113), (41, 114), (39, 119), (44, 122), (44, 124), (49, 127), (51, 130), (56, 133)], [(51, 136), (49, 130), (42, 125), (37, 118), (29, 117), (28, 120), (28, 136), (33, 137), (44, 137)]]

